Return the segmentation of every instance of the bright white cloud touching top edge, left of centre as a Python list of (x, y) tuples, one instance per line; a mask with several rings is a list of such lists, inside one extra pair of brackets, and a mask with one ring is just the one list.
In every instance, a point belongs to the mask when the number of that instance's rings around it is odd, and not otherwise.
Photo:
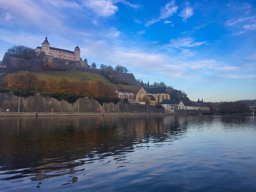
[(83, 5), (103, 17), (114, 15), (118, 11), (118, 7), (110, 0), (85, 0)]

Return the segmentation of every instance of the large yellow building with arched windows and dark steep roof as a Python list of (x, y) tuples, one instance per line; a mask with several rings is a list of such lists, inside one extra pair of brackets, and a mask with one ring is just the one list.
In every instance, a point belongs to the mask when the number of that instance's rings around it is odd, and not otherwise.
[(136, 94), (136, 101), (139, 101), (141, 98), (143, 98), (144, 95), (146, 95), (151, 100), (151, 105), (161, 103), (163, 99), (170, 99), (170, 95), (166, 92), (165, 88), (141, 87), (139, 92)]

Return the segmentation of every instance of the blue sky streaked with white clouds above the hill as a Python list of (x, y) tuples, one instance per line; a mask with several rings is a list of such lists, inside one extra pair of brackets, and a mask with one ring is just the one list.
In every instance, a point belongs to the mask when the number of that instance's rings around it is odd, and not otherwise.
[(0, 0), (0, 60), (8, 48), (74, 50), (123, 65), (192, 101), (256, 99), (256, 1)]

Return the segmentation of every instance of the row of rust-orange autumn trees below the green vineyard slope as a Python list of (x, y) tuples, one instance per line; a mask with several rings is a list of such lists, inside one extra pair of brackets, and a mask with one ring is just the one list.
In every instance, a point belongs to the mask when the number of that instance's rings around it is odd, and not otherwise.
[(37, 76), (29, 72), (22, 74), (8, 74), (6, 76), (7, 89), (28, 90), (44, 93), (76, 94), (93, 97), (117, 97), (113, 84), (103, 83), (100, 80), (70, 82), (62, 78), (60, 80), (39, 80)]

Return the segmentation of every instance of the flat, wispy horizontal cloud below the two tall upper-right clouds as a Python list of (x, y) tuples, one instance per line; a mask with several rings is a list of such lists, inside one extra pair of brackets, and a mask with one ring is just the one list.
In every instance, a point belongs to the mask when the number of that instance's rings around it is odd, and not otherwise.
[(203, 44), (206, 44), (208, 41), (201, 41), (201, 42), (196, 42), (195, 38), (192, 37), (185, 37), (185, 38), (177, 38), (177, 39), (171, 39), (169, 46), (174, 46), (176, 48), (182, 48), (182, 47), (195, 47), (195, 46), (200, 46)]

